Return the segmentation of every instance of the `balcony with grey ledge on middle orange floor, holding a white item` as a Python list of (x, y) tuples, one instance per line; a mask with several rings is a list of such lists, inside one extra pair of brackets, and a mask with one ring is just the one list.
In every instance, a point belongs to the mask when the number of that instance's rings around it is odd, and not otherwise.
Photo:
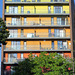
[(70, 39), (70, 33), (10, 33), (8, 39)]

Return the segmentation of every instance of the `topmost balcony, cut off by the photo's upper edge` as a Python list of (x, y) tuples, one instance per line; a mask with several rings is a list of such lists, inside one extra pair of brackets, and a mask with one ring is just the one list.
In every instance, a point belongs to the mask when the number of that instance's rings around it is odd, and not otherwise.
[(5, 0), (5, 3), (15, 3), (15, 4), (44, 4), (44, 3), (47, 3), (47, 4), (51, 4), (51, 3), (60, 3), (60, 4), (69, 4), (69, 1), (66, 1), (66, 0)]

